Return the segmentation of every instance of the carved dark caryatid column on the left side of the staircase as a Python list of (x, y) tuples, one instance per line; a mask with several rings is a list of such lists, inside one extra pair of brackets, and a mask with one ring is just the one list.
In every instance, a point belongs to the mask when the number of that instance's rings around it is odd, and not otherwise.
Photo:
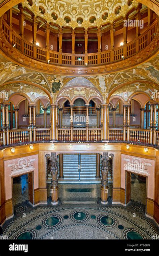
[(57, 157), (55, 153), (51, 153), (51, 157), (49, 159), (51, 161), (51, 204), (58, 204), (58, 180), (57, 180)]

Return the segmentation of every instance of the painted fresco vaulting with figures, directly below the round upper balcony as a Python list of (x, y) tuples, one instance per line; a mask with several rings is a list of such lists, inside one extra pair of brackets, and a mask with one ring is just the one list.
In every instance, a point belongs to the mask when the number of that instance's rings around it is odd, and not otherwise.
[(159, 89), (158, 56), (133, 69), (85, 78), (35, 72), (8, 61), (2, 55), (0, 55), (0, 60), (1, 91), (3, 89), (13, 90), (14, 88), (14, 92), (23, 90), (28, 93), (31, 86), (37, 85), (35, 87), (37, 92), (44, 88), (44, 91), (52, 96), (53, 102), (56, 101), (59, 92), (68, 87), (94, 87), (103, 96), (104, 101), (106, 101), (108, 94), (117, 95), (125, 91), (145, 91), (151, 94), (152, 91)]

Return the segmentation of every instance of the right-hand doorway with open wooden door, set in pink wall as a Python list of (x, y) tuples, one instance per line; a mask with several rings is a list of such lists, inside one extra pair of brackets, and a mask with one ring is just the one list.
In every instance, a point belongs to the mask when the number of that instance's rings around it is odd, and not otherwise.
[(145, 205), (147, 199), (147, 177), (137, 173), (126, 172), (125, 204), (131, 201)]

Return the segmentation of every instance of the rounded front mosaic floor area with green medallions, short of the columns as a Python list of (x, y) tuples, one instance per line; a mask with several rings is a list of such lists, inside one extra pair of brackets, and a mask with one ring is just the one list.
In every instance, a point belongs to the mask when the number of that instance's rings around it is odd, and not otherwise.
[(148, 219), (122, 206), (37, 207), (10, 221), (8, 239), (152, 239)]

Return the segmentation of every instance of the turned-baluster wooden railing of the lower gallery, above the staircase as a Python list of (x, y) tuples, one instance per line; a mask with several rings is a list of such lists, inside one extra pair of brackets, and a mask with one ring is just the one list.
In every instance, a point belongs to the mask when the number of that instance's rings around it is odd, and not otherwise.
[[(103, 139), (102, 128), (63, 127), (57, 129), (57, 141), (59, 142), (100, 142)], [(27, 143), (32, 141), (48, 142), (51, 140), (51, 129), (19, 129), (0, 132), (0, 146)], [(159, 131), (144, 129), (109, 128), (108, 141), (128, 141), (139, 144), (159, 146)]]

